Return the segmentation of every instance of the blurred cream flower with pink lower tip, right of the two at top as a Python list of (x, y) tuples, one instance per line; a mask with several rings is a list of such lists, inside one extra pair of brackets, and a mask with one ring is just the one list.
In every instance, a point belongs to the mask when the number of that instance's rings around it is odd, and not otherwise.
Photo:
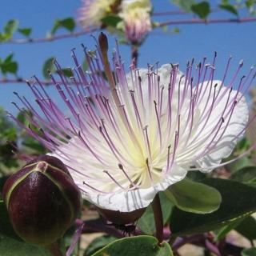
[(126, 33), (126, 38), (132, 43), (141, 42), (152, 28), (150, 0), (123, 0), (119, 16), (122, 22), (118, 25)]

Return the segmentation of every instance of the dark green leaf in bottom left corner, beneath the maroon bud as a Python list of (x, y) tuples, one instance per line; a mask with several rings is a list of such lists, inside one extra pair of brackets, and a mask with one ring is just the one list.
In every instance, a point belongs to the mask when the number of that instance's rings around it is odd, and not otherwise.
[(3, 202), (0, 202), (0, 255), (51, 256), (48, 250), (42, 247), (29, 245), (18, 238), (10, 224), (6, 206)]

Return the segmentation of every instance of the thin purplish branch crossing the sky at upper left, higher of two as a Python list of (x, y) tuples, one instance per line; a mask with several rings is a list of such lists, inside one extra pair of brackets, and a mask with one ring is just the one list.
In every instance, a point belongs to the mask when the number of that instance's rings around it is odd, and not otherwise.
[(93, 33), (94, 31), (97, 31), (97, 30), (98, 30), (98, 28), (94, 28), (91, 30), (82, 30), (82, 31), (78, 31), (78, 32), (59, 34), (59, 35), (51, 36), (48, 38), (24, 38), (24, 39), (10, 38), (9, 40), (7, 40), (5, 42), (0, 42), (0, 43), (24, 44), (24, 43), (34, 43), (34, 42), (53, 42), (53, 41), (61, 40), (61, 39), (65, 39), (65, 38), (77, 38), (84, 34)]

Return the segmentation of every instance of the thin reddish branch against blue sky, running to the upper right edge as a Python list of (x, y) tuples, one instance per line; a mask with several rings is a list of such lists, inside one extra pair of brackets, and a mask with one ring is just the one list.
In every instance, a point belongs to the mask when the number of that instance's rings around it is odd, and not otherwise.
[(201, 18), (183, 19), (183, 20), (171, 20), (167, 22), (160, 22), (158, 26), (170, 26), (170, 25), (192, 25), (192, 24), (210, 24), (210, 23), (244, 23), (244, 22), (256, 22), (254, 17), (246, 18), (213, 18), (203, 20)]

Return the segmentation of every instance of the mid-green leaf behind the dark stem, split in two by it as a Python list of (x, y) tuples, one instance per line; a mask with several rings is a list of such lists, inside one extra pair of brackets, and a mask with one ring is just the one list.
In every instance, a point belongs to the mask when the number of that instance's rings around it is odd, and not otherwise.
[[(170, 218), (170, 213), (172, 209), (172, 203), (166, 198), (166, 195), (163, 192), (159, 193), (161, 208), (162, 208), (162, 215), (163, 215), (163, 222), (166, 222)], [(145, 233), (145, 234), (154, 234), (155, 231), (155, 224), (154, 224), (154, 213), (152, 210), (152, 206), (148, 206), (146, 208), (145, 213), (142, 215), (141, 218), (138, 219), (137, 226)]]

